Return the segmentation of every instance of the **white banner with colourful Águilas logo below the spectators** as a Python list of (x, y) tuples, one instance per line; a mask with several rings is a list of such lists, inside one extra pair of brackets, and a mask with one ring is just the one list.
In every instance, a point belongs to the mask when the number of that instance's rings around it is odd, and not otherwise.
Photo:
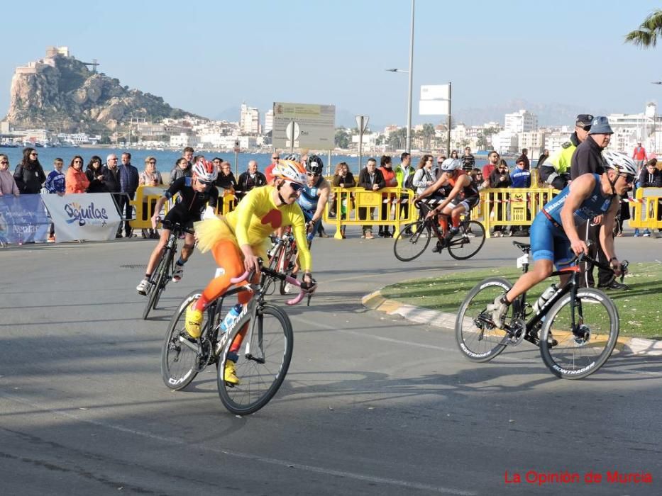
[(115, 239), (121, 218), (110, 193), (41, 196), (55, 224), (55, 239)]

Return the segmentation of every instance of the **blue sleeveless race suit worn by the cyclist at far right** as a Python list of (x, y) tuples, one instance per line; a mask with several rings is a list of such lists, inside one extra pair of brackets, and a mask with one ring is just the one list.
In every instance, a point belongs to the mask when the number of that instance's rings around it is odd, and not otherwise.
[[(602, 193), (600, 175), (593, 174), (595, 186), (588, 198), (575, 210), (575, 225), (581, 225), (597, 215), (604, 215), (612, 205), (613, 195)], [(567, 265), (574, 257), (570, 249), (570, 240), (563, 231), (561, 210), (570, 194), (570, 186), (566, 186), (551, 201), (548, 201), (541, 212), (536, 215), (531, 225), (531, 258), (551, 260), (556, 266)]]

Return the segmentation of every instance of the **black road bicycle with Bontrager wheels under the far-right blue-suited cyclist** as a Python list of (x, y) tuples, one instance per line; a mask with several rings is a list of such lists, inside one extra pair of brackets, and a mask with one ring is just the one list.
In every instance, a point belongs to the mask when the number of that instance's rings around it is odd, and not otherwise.
[[(526, 273), (531, 245), (517, 241), (513, 244), (524, 252), (517, 259), (517, 266)], [(580, 262), (612, 270), (607, 264), (580, 254), (573, 266), (551, 274), (550, 277), (570, 277), (553, 293), (550, 291), (547, 300), (540, 298), (532, 307), (526, 302), (526, 292), (519, 295), (508, 309), (503, 329), (495, 325), (487, 305), (507, 293), (512, 284), (500, 277), (478, 283), (460, 305), (456, 319), (456, 340), (462, 354), (471, 361), (486, 362), (506, 346), (517, 346), (526, 340), (539, 346), (545, 365), (557, 377), (580, 379), (597, 371), (616, 345), (619, 315), (604, 292), (580, 287)], [(621, 281), (628, 262), (622, 261), (622, 266)]]

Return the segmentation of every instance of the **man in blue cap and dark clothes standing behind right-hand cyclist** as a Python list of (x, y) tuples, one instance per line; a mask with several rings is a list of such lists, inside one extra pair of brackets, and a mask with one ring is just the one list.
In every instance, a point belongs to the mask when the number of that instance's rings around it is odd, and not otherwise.
[[(582, 174), (602, 174), (605, 172), (605, 161), (602, 159), (602, 150), (605, 150), (609, 145), (609, 140), (612, 139), (614, 131), (609, 125), (609, 119), (602, 115), (596, 115), (591, 122), (591, 130), (588, 132), (588, 137), (581, 143), (575, 153), (573, 159), (570, 161), (570, 180), (577, 179)], [(586, 230), (584, 239), (590, 241), (588, 254), (590, 257), (597, 259), (604, 263), (609, 264), (605, 252), (602, 251), (602, 244), (598, 235), (600, 233), (600, 225), (602, 225), (602, 216), (594, 218), (592, 222), (586, 222)], [(592, 287), (595, 283), (593, 279), (593, 268), (590, 270), (583, 264), (583, 271), (585, 274), (584, 283), (586, 286)], [(629, 289), (627, 284), (619, 283), (614, 277), (612, 271), (606, 269), (597, 270), (597, 287), (605, 289), (623, 290)]]

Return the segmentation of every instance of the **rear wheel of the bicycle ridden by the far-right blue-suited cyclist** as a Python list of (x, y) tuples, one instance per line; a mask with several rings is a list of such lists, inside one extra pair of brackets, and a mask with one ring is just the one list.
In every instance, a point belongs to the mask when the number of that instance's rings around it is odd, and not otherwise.
[[(462, 354), (471, 361), (490, 361), (506, 347), (504, 337), (508, 335), (492, 323), (492, 312), (487, 305), (494, 303), (512, 284), (504, 278), (492, 277), (478, 283), (460, 305), (455, 322), (455, 337)], [(506, 319), (512, 317), (510, 305)]]

